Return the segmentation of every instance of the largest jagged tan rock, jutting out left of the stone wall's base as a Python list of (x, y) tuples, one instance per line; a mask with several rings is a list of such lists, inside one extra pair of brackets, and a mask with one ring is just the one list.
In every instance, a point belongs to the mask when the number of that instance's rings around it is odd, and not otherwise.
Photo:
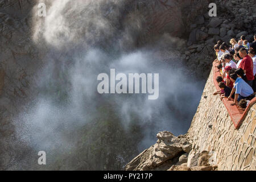
[(179, 156), (181, 152), (191, 151), (191, 143), (187, 138), (177, 138), (168, 131), (162, 131), (156, 135), (158, 141), (154, 146), (144, 150), (136, 158), (131, 160), (125, 170), (150, 170), (159, 167), (167, 160)]

